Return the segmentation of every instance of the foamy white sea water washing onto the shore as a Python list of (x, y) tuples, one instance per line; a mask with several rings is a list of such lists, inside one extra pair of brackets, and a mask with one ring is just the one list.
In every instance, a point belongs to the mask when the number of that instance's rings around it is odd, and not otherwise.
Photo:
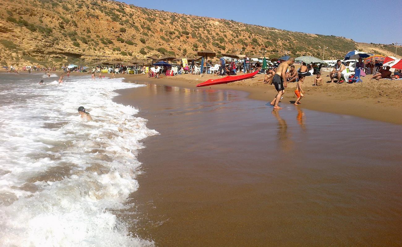
[[(153, 246), (119, 214), (141, 173), (141, 140), (158, 134), (117, 89), (90, 76), (0, 74), (0, 245)], [(86, 122), (78, 107), (90, 112)]]

